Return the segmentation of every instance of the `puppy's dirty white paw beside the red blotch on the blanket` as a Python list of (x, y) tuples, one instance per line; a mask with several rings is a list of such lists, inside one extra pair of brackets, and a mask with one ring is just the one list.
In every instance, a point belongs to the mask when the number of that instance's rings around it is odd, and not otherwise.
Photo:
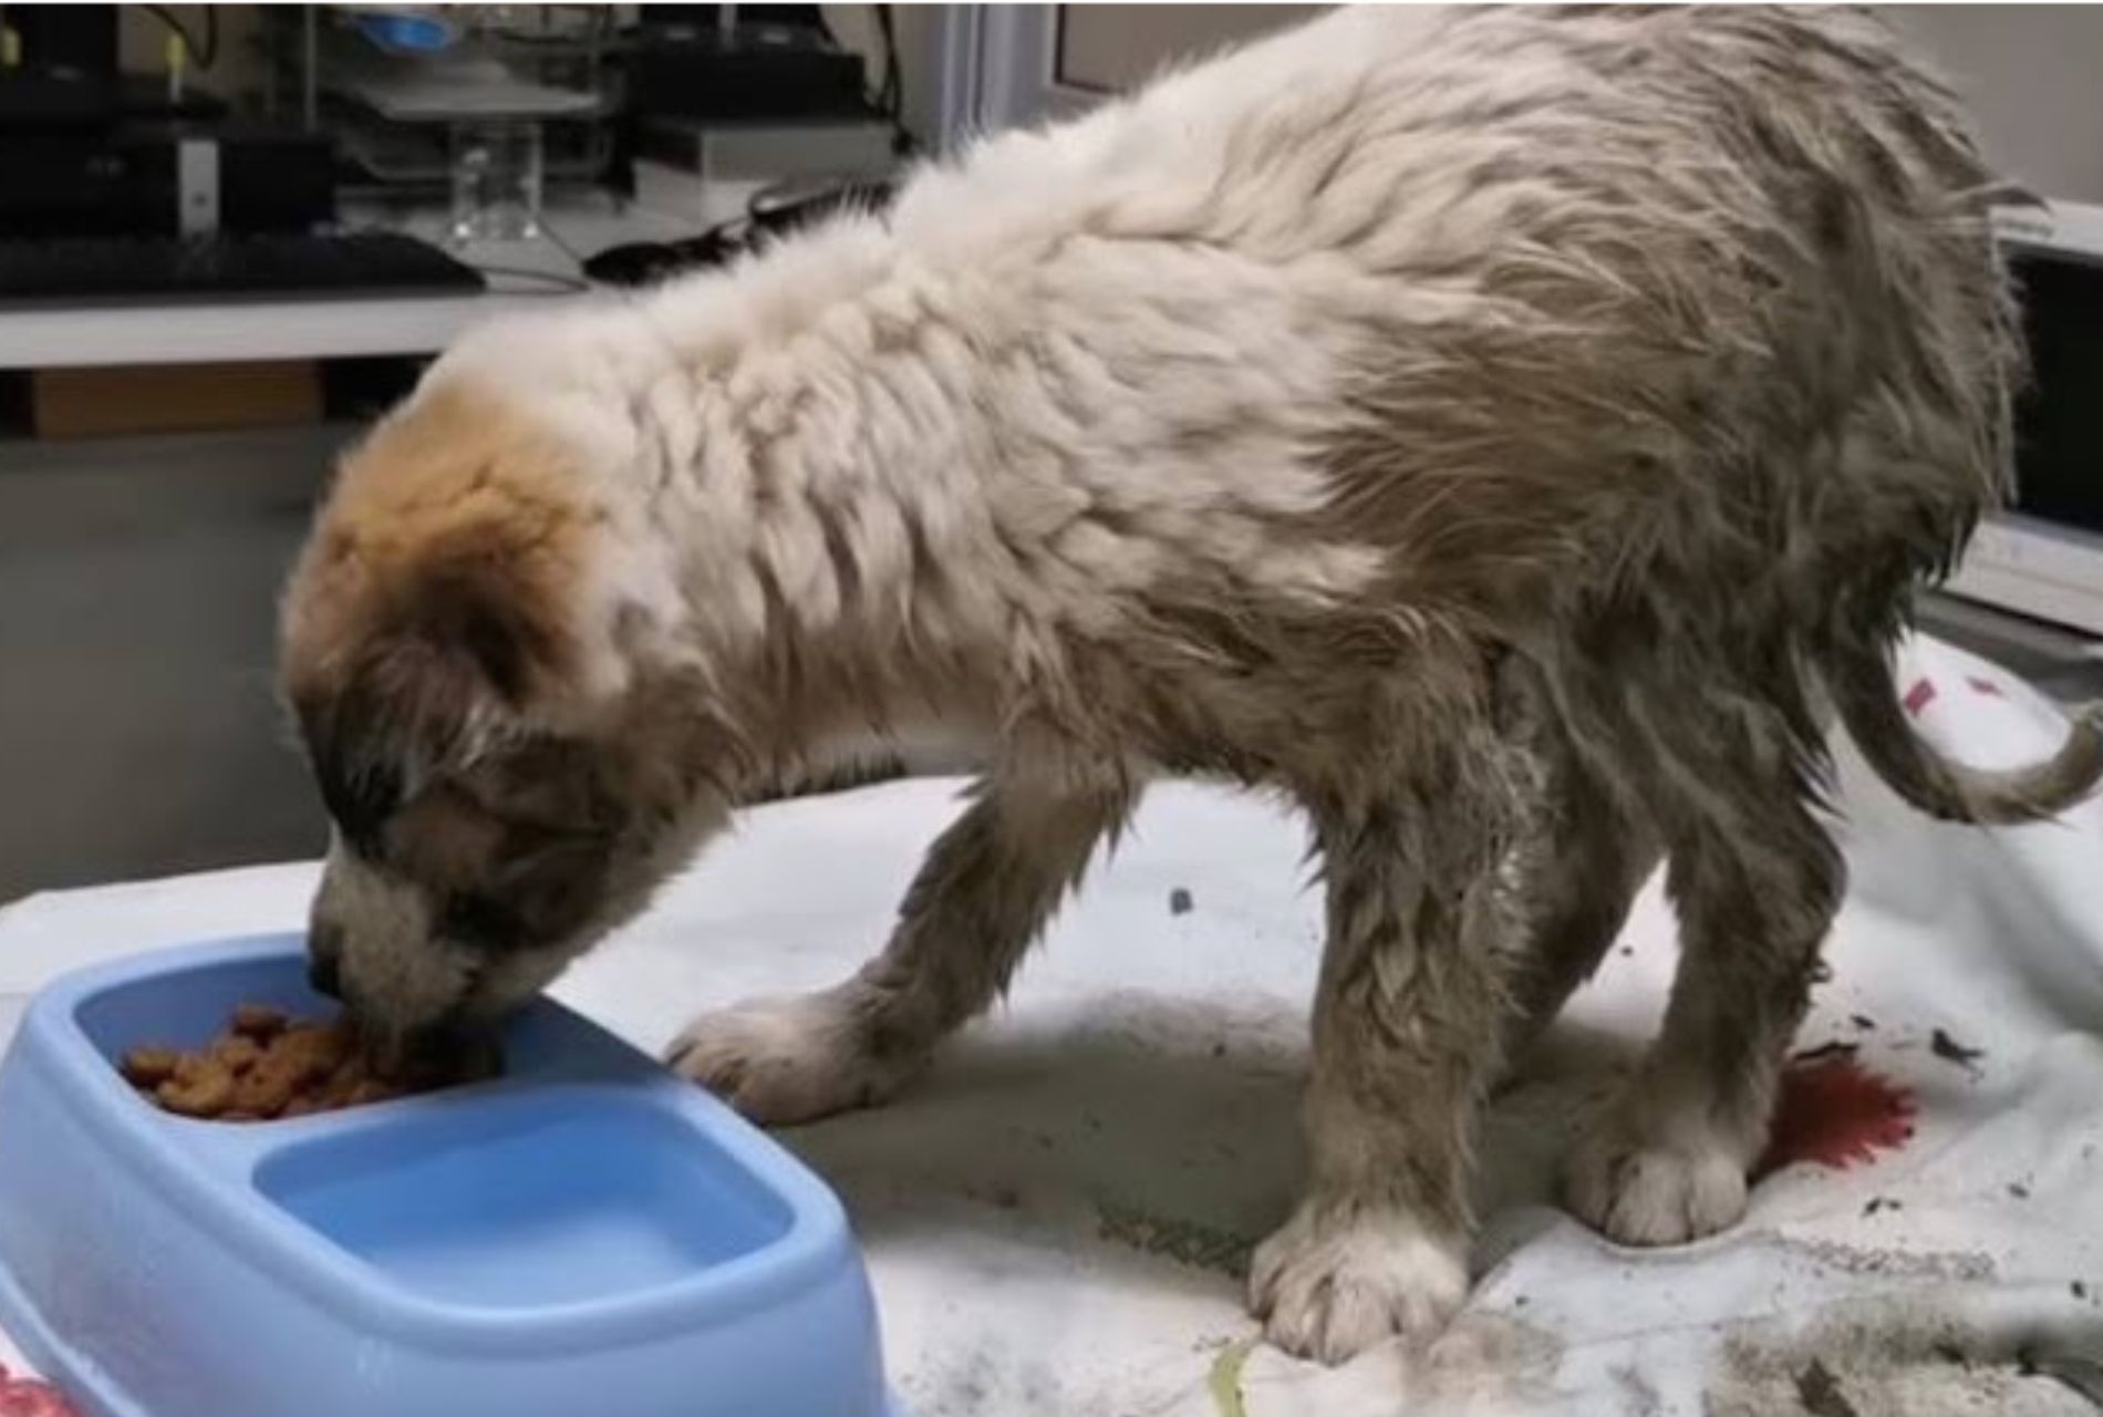
[(1745, 1161), (1706, 1127), (1645, 1127), (1615, 1108), (1571, 1152), (1565, 1198), (1609, 1240), (1685, 1245), (1745, 1213)]

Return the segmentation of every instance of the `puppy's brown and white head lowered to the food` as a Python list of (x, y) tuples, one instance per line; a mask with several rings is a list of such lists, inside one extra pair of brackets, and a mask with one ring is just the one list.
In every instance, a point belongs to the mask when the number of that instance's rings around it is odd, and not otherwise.
[(313, 976), (395, 1055), (545, 986), (728, 809), (698, 704), (635, 669), (591, 488), (503, 404), (425, 393), (345, 458), (286, 591), (334, 824)]

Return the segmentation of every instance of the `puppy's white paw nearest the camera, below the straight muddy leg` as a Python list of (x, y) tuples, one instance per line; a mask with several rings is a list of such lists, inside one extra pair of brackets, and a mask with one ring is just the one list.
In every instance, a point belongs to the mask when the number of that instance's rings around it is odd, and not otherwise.
[(1464, 1249), (1394, 1209), (1304, 1200), (1249, 1266), (1266, 1337), (1331, 1364), (1394, 1335), (1432, 1339), (1466, 1297)]

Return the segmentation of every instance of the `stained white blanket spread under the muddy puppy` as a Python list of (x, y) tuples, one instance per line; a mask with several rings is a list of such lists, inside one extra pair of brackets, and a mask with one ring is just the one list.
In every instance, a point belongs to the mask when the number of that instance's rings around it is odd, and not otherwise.
[[(2000, 671), (1935, 643), (1907, 658), (1947, 751), (2006, 765), (2057, 744), (2059, 715)], [(1888, 1081), (1912, 1135), (1783, 1167), (1743, 1226), (1685, 1249), (1619, 1249), (1556, 1209), (1556, 1158), (1672, 973), (1653, 887), (1495, 1106), (1466, 1314), (1428, 1356), (1338, 1371), (1251, 1348), (1234, 1278), (1293, 1194), (1319, 952), (1304, 833), (1247, 797), (1157, 788), (997, 1018), (892, 1108), (787, 1135), (854, 1213), (908, 1409), (2092, 1413), (2103, 805), (1989, 835), (1910, 814), (1853, 757), (1842, 780), (1853, 891), (1802, 1047), (1853, 1045), (1809, 1066)], [(656, 1049), (696, 1009), (833, 982), (881, 942), (955, 793), (751, 812), (557, 992)], [(0, 910), (0, 1030), (67, 967), (299, 927), (311, 887), (313, 866), (275, 866)]]

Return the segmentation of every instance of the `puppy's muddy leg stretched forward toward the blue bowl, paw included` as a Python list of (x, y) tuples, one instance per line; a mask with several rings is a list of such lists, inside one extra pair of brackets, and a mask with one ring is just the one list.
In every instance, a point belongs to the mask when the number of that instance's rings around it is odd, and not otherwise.
[(835, 988), (696, 1018), (673, 1043), (671, 1066), (761, 1123), (890, 1100), (1007, 988), (1131, 805), (1121, 776), (1060, 788), (980, 782), (921, 864), (881, 954)]

